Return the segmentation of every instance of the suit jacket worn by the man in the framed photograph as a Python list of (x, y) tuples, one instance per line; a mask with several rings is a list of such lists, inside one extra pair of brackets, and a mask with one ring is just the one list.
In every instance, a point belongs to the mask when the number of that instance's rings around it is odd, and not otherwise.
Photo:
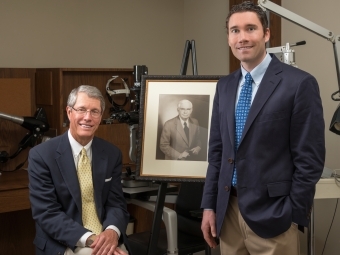
[[(178, 159), (184, 151), (200, 146), (200, 127), (198, 121), (189, 118), (189, 139), (187, 138), (179, 116), (164, 123), (160, 138), (160, 149), (165, 155), (165, 159)], [(192, 156), (190, 156), (192, 158)], [(189, 157), (189, 158), (190, 158)]]

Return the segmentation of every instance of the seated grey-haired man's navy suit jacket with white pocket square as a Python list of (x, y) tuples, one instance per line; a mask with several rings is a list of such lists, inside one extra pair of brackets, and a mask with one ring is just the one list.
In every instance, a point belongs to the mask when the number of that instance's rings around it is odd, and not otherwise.
[[(97, 212), (103, 228), (116, 226), (125, 236), (128, 212), (121, 188), (121, 152), (93, 138), (92, 172)], [(87, 232), (82, 225), (81, 194), (67, 132), (29, 152), (29, 190), (37, 255), (64, 254), (75, 249)]]

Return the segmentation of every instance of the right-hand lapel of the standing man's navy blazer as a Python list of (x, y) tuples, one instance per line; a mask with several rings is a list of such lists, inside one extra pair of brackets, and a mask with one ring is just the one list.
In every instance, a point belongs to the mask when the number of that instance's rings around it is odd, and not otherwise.
[(272, 95), (277, 85), (280, 83), (281, 78), (277, 76), (278, 73), (282, 72), (282, 63), (272, 55), (272, 61), (270, 62), (266, 73), (264, 74), (260, 87), (256, 93), (253, 103), (250, 107), (247, 121), (245, 123), (242, 138), (248, 132), (256, 116), (259, 114), (262, 107), (266, 104), (268, 98)]

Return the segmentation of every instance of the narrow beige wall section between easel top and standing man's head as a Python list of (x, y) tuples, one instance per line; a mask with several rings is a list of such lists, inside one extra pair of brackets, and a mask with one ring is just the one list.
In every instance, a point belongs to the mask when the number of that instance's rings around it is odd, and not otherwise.
[[(198, 74), (224, 75), (229, 72), (229, 50), (225, 0), (184, 0), (184, 38), (195, 40)], [(188, 67), (188, 74), (192, 70)]]

